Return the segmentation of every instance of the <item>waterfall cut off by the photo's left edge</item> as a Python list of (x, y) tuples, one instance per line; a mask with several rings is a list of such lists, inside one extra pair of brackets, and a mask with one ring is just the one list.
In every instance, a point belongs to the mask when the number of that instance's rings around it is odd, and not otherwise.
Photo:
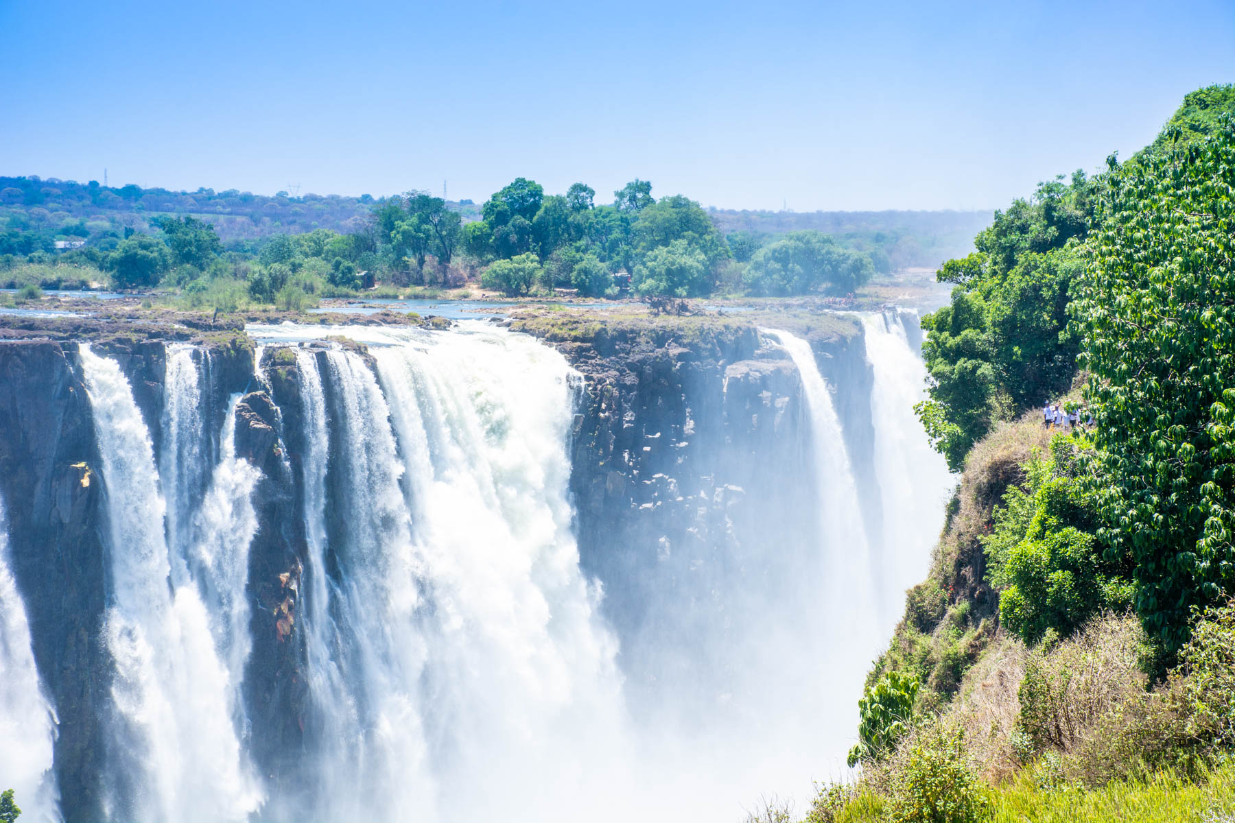
[(52, 771), (56, 724), (35, 669), (26, 608), (9, 570), (9, 522), (0, 501), (0, 790), (14, 790), (23, 821), (61, 819)]

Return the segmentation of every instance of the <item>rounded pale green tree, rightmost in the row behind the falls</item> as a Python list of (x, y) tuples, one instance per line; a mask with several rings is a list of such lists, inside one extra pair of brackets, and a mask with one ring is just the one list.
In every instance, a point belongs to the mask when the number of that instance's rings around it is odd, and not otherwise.
[(861, 252), (837, 246), (823, 232), (789, 232), (755, 252), (746, 287), (757, 295), (848, 294), (865, 285), (874, 267)]

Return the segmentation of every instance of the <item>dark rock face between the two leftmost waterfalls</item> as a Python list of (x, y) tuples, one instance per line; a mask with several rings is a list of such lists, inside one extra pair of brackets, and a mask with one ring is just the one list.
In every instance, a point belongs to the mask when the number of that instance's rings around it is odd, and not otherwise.
[(35, 660), (59, 717), (56, 763), (65, 818), (98, 808), (100, 714), (109, 705), (105, 501), (75, 347), (0, 344), (0, 494), (10, 564)]

